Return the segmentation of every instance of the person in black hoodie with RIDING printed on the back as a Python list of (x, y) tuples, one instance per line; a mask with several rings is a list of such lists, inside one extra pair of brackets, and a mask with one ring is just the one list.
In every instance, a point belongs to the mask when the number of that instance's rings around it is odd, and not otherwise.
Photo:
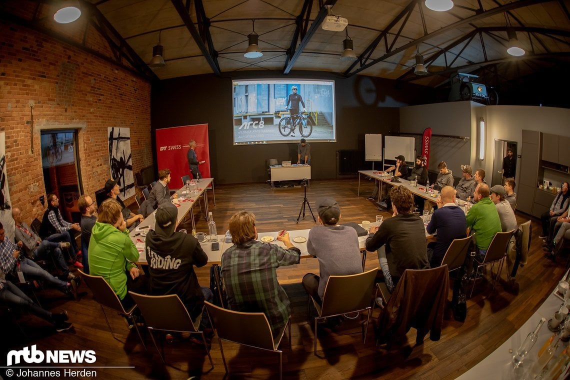
[[(149, 290), (154, 295), (176, 294), (194, 320), (202, 312), (204, 299), (212, 302), (210, 288), (201, 287), (194, 266), (207, 264), (208, 256), (191, 234), (174, 232), (178, 209), (170, 202), (156, 210), (154, 231), (146, 235)], [(207, 318), (202, 317), (204, 324)]]

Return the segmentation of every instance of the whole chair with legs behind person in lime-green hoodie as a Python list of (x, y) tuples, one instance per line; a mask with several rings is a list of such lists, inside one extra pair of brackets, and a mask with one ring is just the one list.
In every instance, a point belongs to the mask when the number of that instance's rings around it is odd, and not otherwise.
[(129, 308), (128, 310), (125, 310), (123, 304), (121, 304), (121, 301), (119, 300), (119, 297), (117, 297), (111, 286), (109, 286), (107, 281), (105, 281), (105, 279), (102, 276), (88, 275), (87, 273), (82, 272), (80, 270), (79, 273), (81, 273), (81, 276), (83, 277), (83, 280), (87, 284), (87, 287), (91, 289), (91, 292), (93, 293), (93, 299), (97, 301), (97, 303), (101, 307), (101, 310), (103, 310), (103, 315), (105, 316), (105, 321), (107, 322), (107, 326), (109, 328), (109, 332), (111, 332), (111, 336), (115, 338), (117, 341), (119, 341), (119, 339), (115, 337), (115, 333), (113, 333), (111, 324), (109, 324), (109, 318), (107, 318), (107, 313), (105, 313), (105, 308), (114, 310), (115, 312), (117, 312), (117, 314), (119, 314), (122, 317), (125, 317), (127, 319), (131, 318), (134, 320), (135, 323), (133, 323), (133, 325), (135, 326), (137, 334), (139, 335), (139, 339), (143, 344), (144, 349), (146, 350), (146, 345), (139, 331), (139, 326), (137, 325), (135, 317), (133, 316), (133, 312), (135, 312), (137, 305), (135, 304), (133, 305), (133, 307)]

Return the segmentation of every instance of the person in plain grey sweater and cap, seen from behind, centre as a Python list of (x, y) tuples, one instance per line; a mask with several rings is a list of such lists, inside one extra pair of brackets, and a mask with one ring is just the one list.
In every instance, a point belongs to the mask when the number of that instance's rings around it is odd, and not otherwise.
[(307, 251), (319, 260), (320, 276), (307, 273), (303, 287), (320, 304), (328, 277), (362, 273), (362, 260), (356, 230), (339, 224), (340, 207), (335, 199), (318, 199), (316, 206), (321, 225), (309, 231)]

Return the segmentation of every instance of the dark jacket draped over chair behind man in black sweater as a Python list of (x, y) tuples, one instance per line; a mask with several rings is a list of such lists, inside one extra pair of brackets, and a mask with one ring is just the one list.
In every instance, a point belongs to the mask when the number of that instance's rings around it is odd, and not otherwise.
[(416, 344), (422, 344), (427, 332), (430, 340), (441, 337), (443, 314), (449, 294), (447, 265), (431, 269), (406, 269), (390, 294), (385, 283), (380, 289), (384, 308), (378, 315), (376, 345), (392, 343), (416, 328)]

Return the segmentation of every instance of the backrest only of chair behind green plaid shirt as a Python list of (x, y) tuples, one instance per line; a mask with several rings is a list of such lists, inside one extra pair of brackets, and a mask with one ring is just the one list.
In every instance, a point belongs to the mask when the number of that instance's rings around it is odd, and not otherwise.
[(204, 301), (218, 338), (223, 340), (275, 350), (269, 321), (264, 313), (242, 313), (222, 309)]

